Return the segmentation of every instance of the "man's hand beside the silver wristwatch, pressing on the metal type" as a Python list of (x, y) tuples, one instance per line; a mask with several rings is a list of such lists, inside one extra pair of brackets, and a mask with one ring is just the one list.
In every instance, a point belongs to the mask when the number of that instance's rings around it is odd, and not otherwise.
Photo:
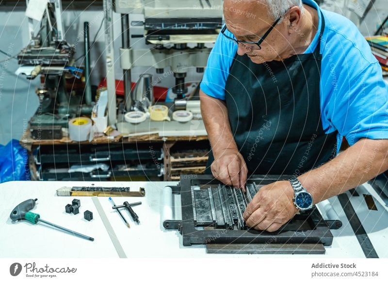
[(298, 212), (292, 203), (294, 191), (289, 181), (263, 186), (243, 214), (246, 225), (256, 230), (274, 232)]

